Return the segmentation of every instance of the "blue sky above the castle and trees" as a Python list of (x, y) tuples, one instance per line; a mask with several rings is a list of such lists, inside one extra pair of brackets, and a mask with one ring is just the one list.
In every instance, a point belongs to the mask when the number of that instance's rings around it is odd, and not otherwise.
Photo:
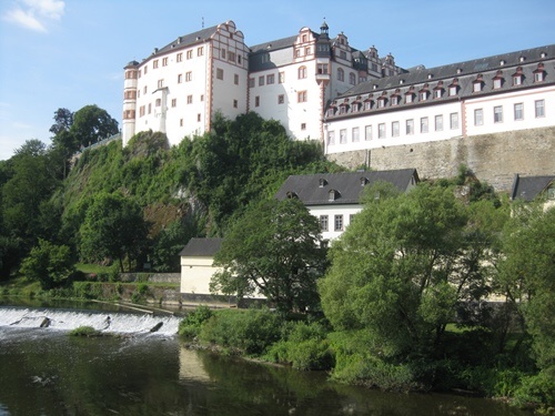
[(51, 143), (59, 108), (97, 104), (119, 121), (123, 67), (233, 20), (248, 45), (303, 27), (433, 68), (555, 43), (555, 0), (0, 0), (0, 160)]

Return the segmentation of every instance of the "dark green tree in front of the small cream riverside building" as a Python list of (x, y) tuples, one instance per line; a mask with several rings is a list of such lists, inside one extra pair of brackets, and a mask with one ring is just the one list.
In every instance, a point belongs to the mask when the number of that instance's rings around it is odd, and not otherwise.
[(226, 234), (211, 290), (239, 297), (259, 291), (281, 312), (316, 308), (325, 270), (319, 221), (299, 200), (251, 205)]

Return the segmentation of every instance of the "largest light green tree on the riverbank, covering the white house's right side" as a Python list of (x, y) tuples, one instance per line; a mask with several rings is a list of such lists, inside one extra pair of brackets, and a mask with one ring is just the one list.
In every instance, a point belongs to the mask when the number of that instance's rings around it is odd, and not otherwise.
[(324, 313), (340, 331), (370, 333), (382, 356), (438, 352), (457, 305), (487, 294), (481, 241), (451, 189), (367, 197), (332, 245), (319, 284)]

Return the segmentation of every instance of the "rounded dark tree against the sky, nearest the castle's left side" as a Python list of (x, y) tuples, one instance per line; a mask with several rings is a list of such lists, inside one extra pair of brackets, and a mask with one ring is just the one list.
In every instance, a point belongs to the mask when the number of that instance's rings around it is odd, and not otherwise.
[(85, 105), (74, 113), (70, 133), (87, 148), (118, 133), (118, 121), (97, 105)]

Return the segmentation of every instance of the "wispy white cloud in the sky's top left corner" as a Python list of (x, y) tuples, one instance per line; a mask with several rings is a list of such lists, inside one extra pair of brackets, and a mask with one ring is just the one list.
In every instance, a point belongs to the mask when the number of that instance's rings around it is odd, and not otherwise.
[(60, 20), (65, 3), (61, 0), (21, 0), (4, 14), (4, 20), (37, 32), (47, 32), (48, 20)]

